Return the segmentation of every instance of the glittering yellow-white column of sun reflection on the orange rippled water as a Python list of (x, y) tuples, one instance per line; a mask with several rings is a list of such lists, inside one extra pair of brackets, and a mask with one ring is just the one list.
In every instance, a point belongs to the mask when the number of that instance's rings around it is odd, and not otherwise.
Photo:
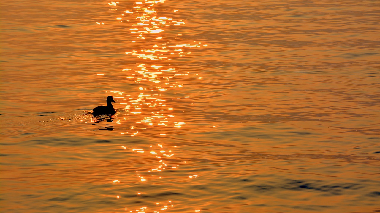
[[(172, 97), (173, 94), (177, 94), (177, 90), (184, 87), (179, 82), (180, 78), (190, 75), (190, 72), (184, 72), (174, 67), (173, 64), (163, 64), (162, 62), (180, 60), (182, 57), (192, 53), (190, 49), (207, 47), (207, 44), (197, 41), (184, 42), (178, 37), (182, 36), (182, 33), (174, 36), (170, 35), (169, 29), (184, 25), (185, 22), (168, 17), (169, 14), (164, 15), (162, 14), (163, 11), (154, 8), (156, 4), (164, 2), (165, 0), (135, 2), (130, 8), (123, 8), (122, 14), (116, 17), (118, 23), (128, 23), (129, 32), (134, 36), (131, 42), (141, 44), (141, 48), (125, 52), (126, 56), (132, 56), (137, 60), (144, 60), (144, 62), (139, 62), (135, 67), (126, 67), (122, 70), (125, 73), (125, 80), (136, 84), (135, 91), (128, 92), (129, 94), (116, 90), (107, 91), (113, 93), (114, 99), (118, 102), (116, 106), (117, 113), (107, 118), (107, 121), (112, 123), (112, 126), (106, 127), (108, 130), (113, 130), (115, 125), (119, 125), (120, 129), (124, 128), (123, 132), (121, 132), (122, 135), (134, 137), (147, 128), (156, 127), (160, 128), (159, 135), (165, 138), (166, 133), (162, 132), (161, 127), (181, 128), (186, 125), (186, 121), (176, 119), (176, 108), (168, 104), (166, 100), (190, 98), (190, 96)], [(117, 8), (118, 4), (119, 2), (108, 3), (109, 6), (114, 8)], [(115, 9), (115, 11), (118, 10)], [(178, 10), (174, 9), (172, 11), (175, 13)], [(103, 25), (104, 23), (97, 22), (97, 24)], [(97, 75), (103, 76), (104, 74)], [(202, 78), (197, 75), (195, 74), (195, 78)], [(171, 96), (168, 96), (168, 92), (170, 92)], [(100, 121), (102, 121), (101, 118), (92, 120), (93, 124)], [(178, 169), (181, 163), (186, 163), (174, 157), (173, 148), (175, 147), (164, 148), (163, 143), (143, 147), (121, 146), (125, 151), (134, 152), (136, 155), (143, 155), (145, 158), (151, 159), (154, 166), (151, 166), (146, 171), (135, 171), (131, 175), (136, 181), (144, 183), (163, 179), (161, 172)], [(196, 177), (198, 177), (198, 174), (189, 174), (184, 178), (189, 180)], [(111, 184), (118, 184), (122, 181), (120, 179), (113, 180)], [(136, 194), (140, 196), (145, 193), (139, 191)], [(122, 199), (122, 197), (117, 195), (117, 199)], [(155, 202), (154, 205), (155, 207), (152, 208), (123, 208), (123, 210), (159, 213), (174, 207), (171, 201), (165, 202), (165, 204)]]

